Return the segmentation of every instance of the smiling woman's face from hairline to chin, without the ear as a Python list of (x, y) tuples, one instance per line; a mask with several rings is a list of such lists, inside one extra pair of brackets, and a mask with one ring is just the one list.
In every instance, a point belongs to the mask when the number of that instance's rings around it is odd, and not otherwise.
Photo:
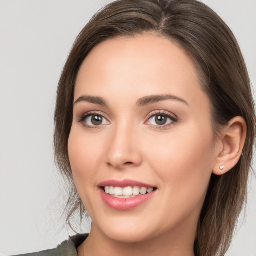
[(77, 76), (68, 154), (94, 233), (193, 236), (216, 149), (189, 56), (149, 34), (95, 46)]

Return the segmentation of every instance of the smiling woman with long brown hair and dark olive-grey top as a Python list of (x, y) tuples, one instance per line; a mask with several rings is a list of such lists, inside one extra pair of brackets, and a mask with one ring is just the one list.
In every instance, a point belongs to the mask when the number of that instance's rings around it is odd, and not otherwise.
[(55, 110), (67, 220), (86, 209), (91, 231), (45, 253), (224, 255), (254, 139), (246, 67), (212, 10), (195, 0), (109, 4), (77, 37)]

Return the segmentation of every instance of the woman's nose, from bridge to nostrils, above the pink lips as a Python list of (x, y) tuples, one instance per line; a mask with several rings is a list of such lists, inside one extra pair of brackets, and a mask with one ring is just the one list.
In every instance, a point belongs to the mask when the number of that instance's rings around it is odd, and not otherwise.
[(105, 162), (116, 169), (135, 167), (141, 164), (139, 134), (128, 126), (111, 130), (106, 149)]

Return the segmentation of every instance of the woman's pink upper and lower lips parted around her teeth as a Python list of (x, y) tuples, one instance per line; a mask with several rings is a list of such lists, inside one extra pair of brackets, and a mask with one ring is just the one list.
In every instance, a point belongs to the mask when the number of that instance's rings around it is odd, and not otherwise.
[(101, 195), (101, 198), (105, 202), (106, 205), (109, 207), (116, 209), (116, 210), (130, 210), (133, 209), (147, 200), (149, 200), (156, 192), (156, 190), (152, 191), (151, 193), (143, 194), (143, 195), (136, 195), (134, 197), (130, 198), (116, 198), (113, 197), (107, 193), (104, 192), (104, 190), (101, 188), (102, 186), (119, 186), (119, 187), (125, 187), (125, 186), (140, 186), (140, 187), (153, 187), (152, 185), (135, 181), (135, 180), (106, 180), (98, 184), (98, 187), (100, 187), (99, 192)]

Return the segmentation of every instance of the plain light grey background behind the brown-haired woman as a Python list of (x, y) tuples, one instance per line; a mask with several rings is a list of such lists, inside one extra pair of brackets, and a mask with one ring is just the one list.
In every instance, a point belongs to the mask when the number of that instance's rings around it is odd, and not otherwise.
[[(1, 255), (53, 248), (73, 234), (62, 228), (65, 193), (53, 163), (55, 91), (76, 35), (110, 1), (0, 0)], [(256, 0), (203, 2), (233, 30), (255, 88)], [(246, 216), (228, 256), (256, 255), (255, 177)]]

